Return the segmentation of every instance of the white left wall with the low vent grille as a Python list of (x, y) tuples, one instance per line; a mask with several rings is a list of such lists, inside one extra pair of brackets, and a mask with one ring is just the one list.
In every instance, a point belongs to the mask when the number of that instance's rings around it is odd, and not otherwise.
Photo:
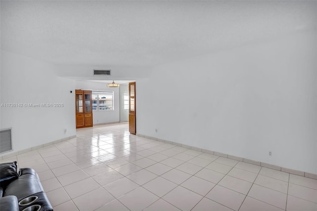
[(54, 71), (52, 64), (1, 51), (1, 104), (64, 105), (0, 107), (0, 128), (12, 128), (13, 152), (76, 134), (75, 95), (70, 94), (75, 81), (57, 77)]

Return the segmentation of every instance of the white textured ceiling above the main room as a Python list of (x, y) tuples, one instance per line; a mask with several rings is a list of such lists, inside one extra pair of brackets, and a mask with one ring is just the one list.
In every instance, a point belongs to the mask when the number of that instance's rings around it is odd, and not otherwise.
[(316, 29), (316, 5), (1, 0), (1, 49), (56, 64), (155, 66)]

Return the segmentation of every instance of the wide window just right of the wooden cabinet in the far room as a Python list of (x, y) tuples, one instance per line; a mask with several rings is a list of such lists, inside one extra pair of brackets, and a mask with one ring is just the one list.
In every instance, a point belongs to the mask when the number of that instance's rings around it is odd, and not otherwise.
[(93, 91), (93, 110), (113, 110), (113, 92)]

